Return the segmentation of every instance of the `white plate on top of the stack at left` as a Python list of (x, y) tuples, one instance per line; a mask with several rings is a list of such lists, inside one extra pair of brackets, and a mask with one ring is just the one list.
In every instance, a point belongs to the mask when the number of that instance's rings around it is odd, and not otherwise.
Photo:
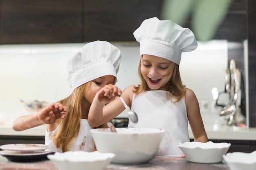
[(14, 150), (18, 152), (28, 153), (36, 150), (45, 150), (50, 148), (51, 146), (44, 144), (7, 144), (0, 146), (2, 150)]

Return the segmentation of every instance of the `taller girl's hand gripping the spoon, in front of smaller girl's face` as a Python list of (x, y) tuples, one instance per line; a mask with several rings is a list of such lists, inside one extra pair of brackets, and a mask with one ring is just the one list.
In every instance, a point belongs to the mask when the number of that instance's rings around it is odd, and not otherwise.
[(105, 85), (103, 88), (97, 92), (95, 98), (98, 102), (106, 104), (112, 100), (114, 100), (117, 96), (121, 96), (122, 91), (115, 85), (109, 84)]

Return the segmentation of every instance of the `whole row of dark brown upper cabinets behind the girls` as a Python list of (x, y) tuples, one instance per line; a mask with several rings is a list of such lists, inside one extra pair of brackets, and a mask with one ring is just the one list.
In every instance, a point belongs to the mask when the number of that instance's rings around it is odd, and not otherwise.
[[(135, 41), (135, 29), (161, 19), (161, 9), (162, 0), (0, 0), (0, 43)], [(246, 17), (246, 0), (233, 0), (214, 38), (246, 39)]]

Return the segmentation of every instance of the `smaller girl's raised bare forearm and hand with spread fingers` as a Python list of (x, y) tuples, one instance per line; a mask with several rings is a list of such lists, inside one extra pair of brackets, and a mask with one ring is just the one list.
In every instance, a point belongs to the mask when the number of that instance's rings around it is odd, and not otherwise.
[(23, 131), (42, 124), (53, 124), (59, 118), (65, 118), (67, 108), (59, 103), (54, 103), (41, 111), (25, 116), (20, 116), (13, 121), (12, 128), (15, 131)]

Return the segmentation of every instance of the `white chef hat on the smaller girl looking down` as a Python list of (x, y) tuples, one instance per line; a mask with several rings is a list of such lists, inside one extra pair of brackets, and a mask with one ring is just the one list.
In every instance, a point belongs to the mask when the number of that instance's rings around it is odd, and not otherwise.
[(120, 50), (107, 41), (85, 44), (68, 60), (67, 74), (72, 91), (84, 83), (106, 75), (115, 76), (121, 62)]

